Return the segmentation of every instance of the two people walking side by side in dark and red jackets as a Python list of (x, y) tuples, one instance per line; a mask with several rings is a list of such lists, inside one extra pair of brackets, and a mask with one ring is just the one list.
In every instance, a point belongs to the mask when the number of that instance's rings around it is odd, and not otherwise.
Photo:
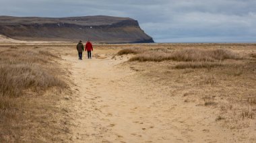
[(78, 52), (78, 58), (79, 60), (82, 60), (83, 51), (87, 51), (88, 58), (92, 58), (92, 43), (90, 40), (86, 43), (86, 48), (84, 48), (84, 44), (82, 44), (82, 41), (79, 41), (79, 43), (76, 46), (77, 52)]

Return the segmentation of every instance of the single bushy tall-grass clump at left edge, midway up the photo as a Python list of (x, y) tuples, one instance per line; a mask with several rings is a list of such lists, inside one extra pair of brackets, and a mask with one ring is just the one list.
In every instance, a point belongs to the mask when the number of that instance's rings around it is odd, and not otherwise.
[(49, 87), (65, 87), (65, 83), (38, 64), (0, 65), (0, 95), (20, 96), (24, 90), (39, 92)]

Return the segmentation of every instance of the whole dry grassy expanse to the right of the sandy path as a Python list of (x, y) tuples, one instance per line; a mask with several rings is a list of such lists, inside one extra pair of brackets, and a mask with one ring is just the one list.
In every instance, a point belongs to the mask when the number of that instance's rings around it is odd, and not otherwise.
[(123, 48), (117, 55), (133, 54), (125, 65), (185, 103), (209, 107), (224, 128), (251, 130), (255, 49), (255, 44), (159, 44)]

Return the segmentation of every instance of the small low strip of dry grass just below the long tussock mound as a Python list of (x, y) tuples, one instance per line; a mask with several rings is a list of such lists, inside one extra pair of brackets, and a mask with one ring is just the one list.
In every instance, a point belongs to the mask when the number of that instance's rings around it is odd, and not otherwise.
[(223, 66), (222, 63), (218, 62), (185, 62), (177, 64), (174, 68), (185, 69), (185, 68), (214, 68), (218, 66)]

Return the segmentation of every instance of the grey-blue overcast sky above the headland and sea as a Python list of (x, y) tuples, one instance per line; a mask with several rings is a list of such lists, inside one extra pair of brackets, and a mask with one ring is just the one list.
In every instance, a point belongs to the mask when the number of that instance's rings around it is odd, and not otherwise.
[(155, 42), (256, 42), (256, 0), (0, 0), (0, 15), (131, 17)]

